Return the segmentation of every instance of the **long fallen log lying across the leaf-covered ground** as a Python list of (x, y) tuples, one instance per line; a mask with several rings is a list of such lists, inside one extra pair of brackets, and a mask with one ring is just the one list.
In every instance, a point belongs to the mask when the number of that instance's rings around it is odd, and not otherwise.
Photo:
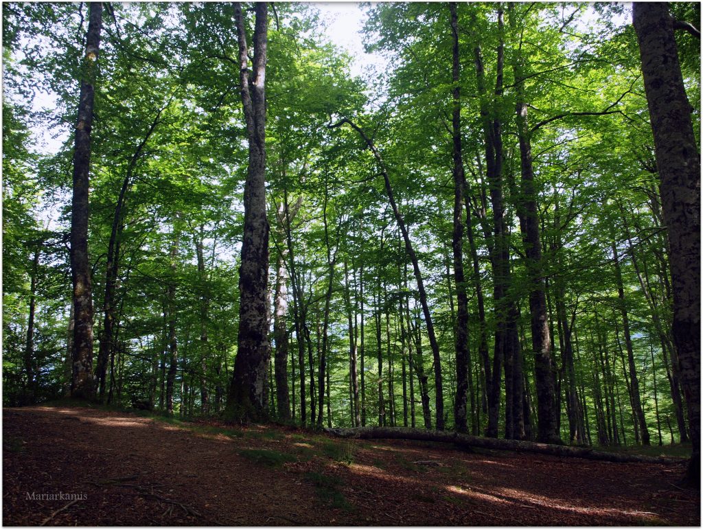
[(590, 447), (560, 446), (555, 444), (539, 444), (534, 441), (484, 438), (470, 436), (470, 434), (460, 434), (458, 432), (436, 431), (431, 429), (411, 429), (408, 427), (356, 427), (354, 429), (337, 428), (325, 429), (325, 432), (342, 438), (439, 441), (447, 444), (455, 444), (460, 448), (482, 448), (497, 451), (539, 453), (543, 455), (569, 456), (615, 463), (679, 464), (685, 463), (686, 461), (683, 458), (624, 455), (620, 453), (594, 451), (593, 448)]

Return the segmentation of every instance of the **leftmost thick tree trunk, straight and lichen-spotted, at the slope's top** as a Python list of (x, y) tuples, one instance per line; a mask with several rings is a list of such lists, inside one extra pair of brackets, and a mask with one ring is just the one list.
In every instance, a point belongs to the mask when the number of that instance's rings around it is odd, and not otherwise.
[(73, 284), (73, 328), (71, 396), (91, 399), (93, 382), (93, 293), (88, 260), (88, 190), (91, 157), (93, 100), (98, 73), (98, 51), (103, 25), (103, 4), (91, 2), (86, 53), (83, 58), (78, 121), (73, 153), (73, 198), (71, 203), (71, 280)]

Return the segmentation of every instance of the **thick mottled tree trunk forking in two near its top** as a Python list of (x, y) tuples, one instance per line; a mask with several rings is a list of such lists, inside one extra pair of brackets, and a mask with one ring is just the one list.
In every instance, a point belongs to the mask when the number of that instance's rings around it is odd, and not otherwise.
[(265, 418), (264, 382), (269, 352), (266, 295), (269, 280), (269, 221), (266, 219), (266, 2), (254, 6), (254, 60), (248, 68), (246, 25), (242, 6), (234, 4), (239, 43), (240, 94), (247, 123), (249, 165), (244, 185), (244, 237), (239, 269), (239, 335), (230, 393), (228, 420)]

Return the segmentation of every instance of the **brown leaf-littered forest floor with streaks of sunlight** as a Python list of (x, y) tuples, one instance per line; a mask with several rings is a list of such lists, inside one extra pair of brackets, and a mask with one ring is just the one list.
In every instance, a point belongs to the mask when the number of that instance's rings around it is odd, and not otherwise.
[(99, 408), (4, 409), (3, 465), (11, 526), (700, 524), (699, 491), (677, 485), (682, 464), (470, 453)]

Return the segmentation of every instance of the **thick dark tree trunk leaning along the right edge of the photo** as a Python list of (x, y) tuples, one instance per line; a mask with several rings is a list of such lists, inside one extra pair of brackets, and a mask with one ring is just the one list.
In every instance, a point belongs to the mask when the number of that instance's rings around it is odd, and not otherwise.
[(671, 250), (673, 340), (688, 404), (693, 454), (688, 481), (700, 486), (700, 153), (667, 4), (636, 3), (645, 93)]

